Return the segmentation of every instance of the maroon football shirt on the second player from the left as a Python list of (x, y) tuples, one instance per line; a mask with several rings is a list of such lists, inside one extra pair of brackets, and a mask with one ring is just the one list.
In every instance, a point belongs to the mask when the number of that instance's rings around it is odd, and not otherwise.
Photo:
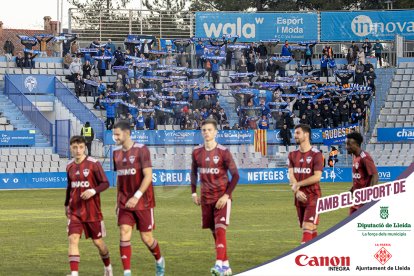
[[(152, 167), (150, 152), (145, 145), (134, 143), (132, 148), (127, 151), (122, 148), (114, 150), (113, 158), (114, 170), (118, 174), (118, 208), (131, 210), (125, 208), (125, 204), (141, 187), (141, 182), (144, 179), (143, 169)], [(155, 207), (155, 198), (151, 181), (134, 210), (153, 207)]]

